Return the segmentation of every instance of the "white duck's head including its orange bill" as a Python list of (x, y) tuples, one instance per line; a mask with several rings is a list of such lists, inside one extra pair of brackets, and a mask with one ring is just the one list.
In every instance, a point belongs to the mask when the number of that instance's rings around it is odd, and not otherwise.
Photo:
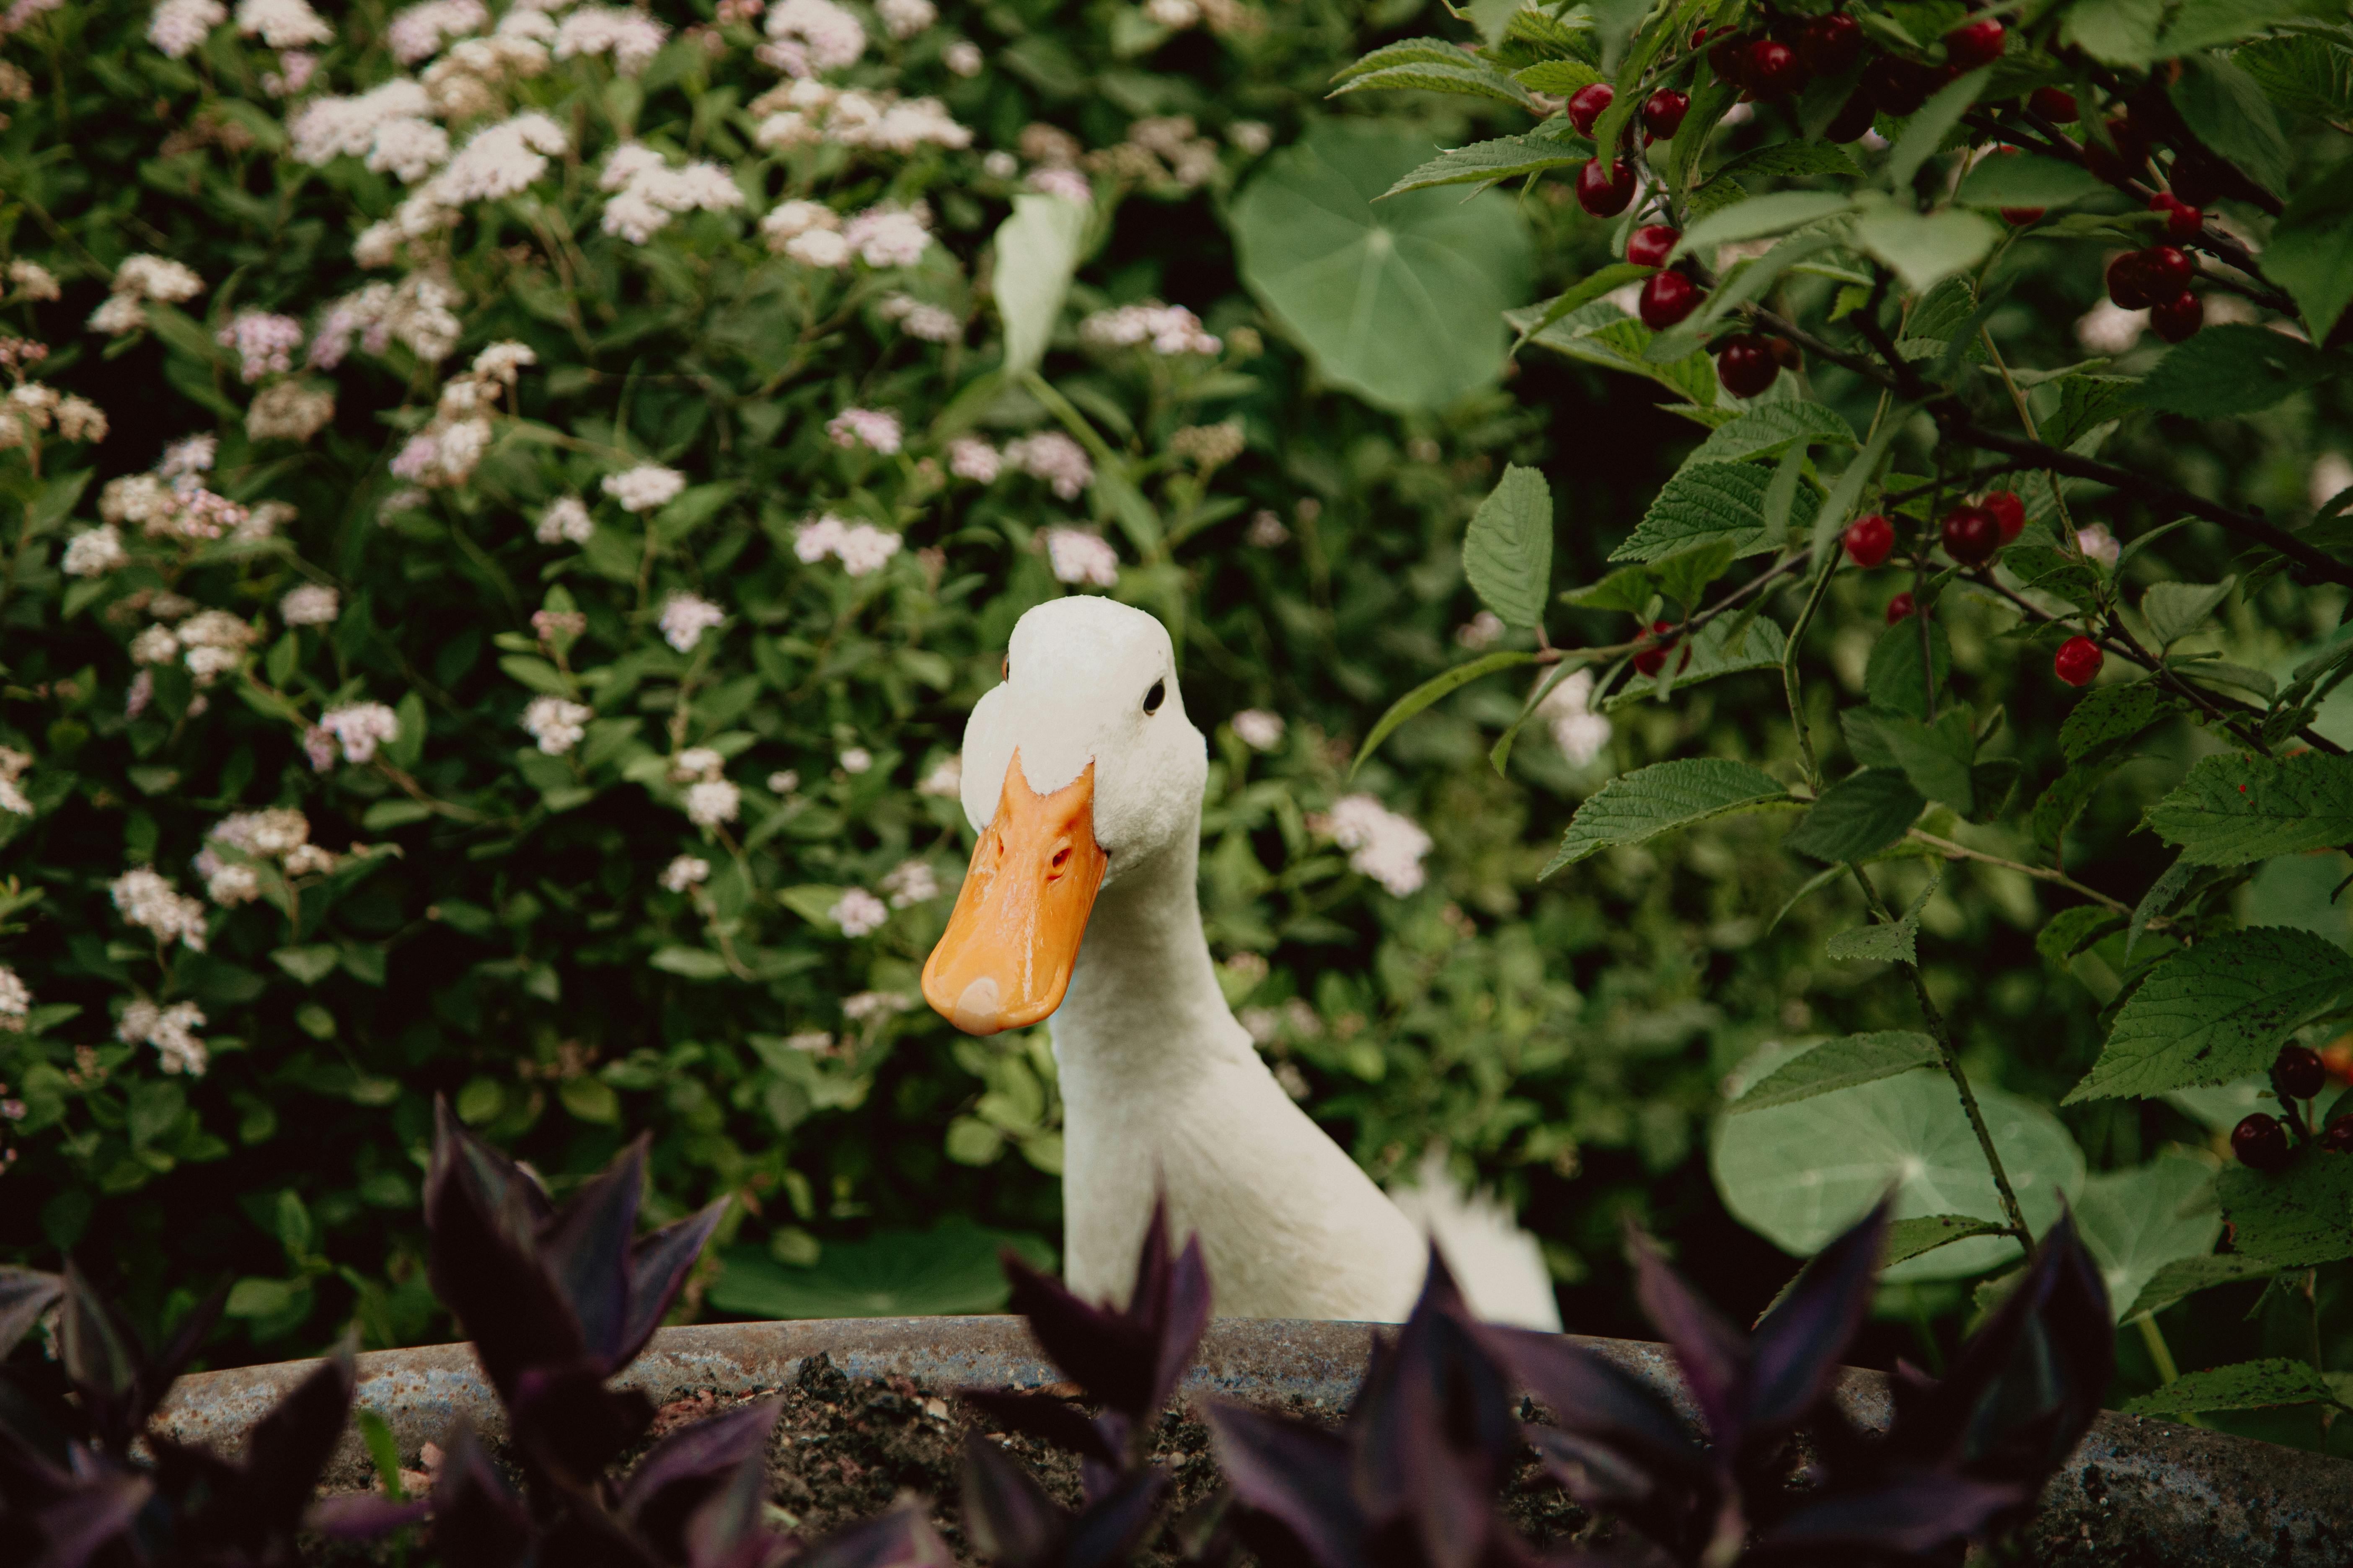
[(1158, 621), (1092, 595), (1021, 616), (1005, 682), (965, 724), (981, 842), (922, 966), (925, 1001), (967, 1034), (1061, 1006), (1094, 896), (1198, 832), (1207, 776)]

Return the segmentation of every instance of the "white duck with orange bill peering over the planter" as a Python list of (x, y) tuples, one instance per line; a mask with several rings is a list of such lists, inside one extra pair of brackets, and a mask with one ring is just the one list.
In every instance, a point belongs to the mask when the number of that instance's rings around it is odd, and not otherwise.
[(965, 726), (981, 842), (922, 994), (967, 1034), (1052, 1018), (1064, 1276), (1122, 1295), (1165, 1185), (1221, 1314), (1398, 1321), (1435, 1234), (1482, 1316), (1558, 1328), (1537, 1246), (1499, 1206), (1424, 1166), (1407, 1218), (1259, 1060), (1200, 929), (1207, 769), (1167, 632), (1099, 597), (1021, 616), (1005, 684)]

